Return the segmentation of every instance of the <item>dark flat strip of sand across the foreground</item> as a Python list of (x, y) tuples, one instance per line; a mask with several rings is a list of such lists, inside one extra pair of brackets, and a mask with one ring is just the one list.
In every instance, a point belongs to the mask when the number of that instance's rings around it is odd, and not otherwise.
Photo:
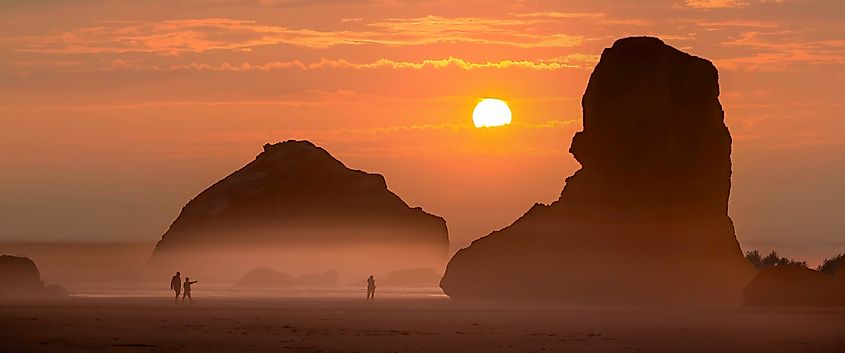
[(845, 311), (544, 310), (444, 298), (5, 300), (0, 352), (845, 352)]

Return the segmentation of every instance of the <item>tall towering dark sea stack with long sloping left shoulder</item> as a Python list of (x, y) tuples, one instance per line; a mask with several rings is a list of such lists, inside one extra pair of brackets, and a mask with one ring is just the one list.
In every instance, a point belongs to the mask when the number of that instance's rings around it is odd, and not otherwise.
[[(731, 136), (716, 68), (656, 38), (605, 49), (560, 199), (449, 263), (452, 298), (739, 304), (753, 275), (728, 217)], [(525, 180), (523, 182), (530, 182)]]

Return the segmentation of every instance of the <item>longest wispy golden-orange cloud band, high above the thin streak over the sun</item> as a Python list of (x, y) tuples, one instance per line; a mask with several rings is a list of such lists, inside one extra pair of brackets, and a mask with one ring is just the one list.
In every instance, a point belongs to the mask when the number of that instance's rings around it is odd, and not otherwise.
[(339, 45), (412, 46), (434, 43), (485, 43), (521, 48), (573, 47), (583, 38), (526, 31), (538, 20), (446, 18), (386, 19), (364, 30), (292, 29), (225, 18), (168, 21), (101, 21), (43, 36), (0, 39), (15, 51), (47, 54), (157, 53), (175, 55), (210, 50), (244, 50), (266, 45), (325, 49)]

